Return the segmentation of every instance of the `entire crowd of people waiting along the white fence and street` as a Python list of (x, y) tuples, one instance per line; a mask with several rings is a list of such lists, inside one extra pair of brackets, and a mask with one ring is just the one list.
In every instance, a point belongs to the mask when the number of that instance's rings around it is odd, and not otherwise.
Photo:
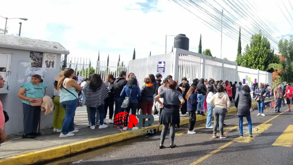
[[(4, 80), (2, 77), (0, 81)], [(161, 142), (159, 148), (163, 148), (164, 139), (170, 126), (170, 147), (176, 147), (174, 144), (175, 127), (179, 127), (180, 117), (189, 115), (189, 124), (187, 134), (196, 134), (194, 126), (196, 115), (205, 116), (206, 128), (213, 129), (212, 138), (217, 138), (217, 128), (219, 127), (220, 139), (227, 136), (224, 134), (224, 119), (226, 113), (230, 110), (231, 102), (235, 103), (237, 114), (239, 117), (240, 137), (243, 137), (243, 117), (246, 117), (249, 127), (249, 136), (252, 135), (251, 121), (251, 88), (248, 85), (242, 85), (241, 82), (232, 83), (231, 81), (219, 80), (213, 78), (195, 79), (190, 84), (188, 79), (183, 77), (181, 82), (174, 81), (171, 75), (162, 79), (161, 74), (150, 74), (144, 78), (144, 85), (139, 87), (139, 82), (134, 73), (120, 72), (118, 78), (113, 75), (107, 75), (104, 82), (100, 74), (91, 74), (81, 83), (77, 83), (77, 76), (74, 75), (74, 70), (67, 68), (54, 77), (53, 100), (54, 117), (53, 131), (60, 132), (59, 137), (74, 136), (79, 132), (74, 126), (74, 116), (76, 107), (80, 104), (86, 106), (88, 114), (88, 127), (95, 129), (107, 128), (108, 124), (113, 124), (122, 130), (113, 122), (115, 117), (120, 112), (136, 115), (140, 112), (143, 115), (154, 115), (159, 117), (159, 124), (163, 125), (161, 132)], [(33, 75), (31, 81), (21, 85), (18, 92), (18, 97), (23, 101), (23, 138), (35, 138), (40, 136), (37, 132), (41, 107), (40, 100), (46, 95), (47, 85), (42, 83), (40, 75)], [(265, 97), (274, 95), (276, 113), (280, 112), (282, 100), (286, 97), (285, 102), (293, 104), (292, 93), (293, 87), (290, 84), (279, 84), (274, 90), (268, 84), (255, 83), (252, 87), (253, 98), (258, 104), (258, 115), (265, 116), (263, 113)], [(285, 93), (285, 95), (284, 95)], [(128, 98), (128, 99), (125, 99)], [(129, 100), (129, 104), (125, 106), (125, 100)], [(154, 112), (153, 112), (154, 109)], [(108, 119), (106, 119), (109, 111)], [(181, 114), (180, 114), (181, 112)], [(4, 116), (2, 104), (0, 102), (0, 139), (3, 142), (6, 137), (3, 131)], [(212, 125), (212, 116), (214, 114), (214, 124)], [(108, 121), (107, 121), (108, 120)], [(150, 119), (148, 119), (150, 120)], [(127, 116), (124, 124), (127, 126)], [(151, 126), (149, 124), (148, 126)], [(143, 127), (145, 119), (143, 119)], [(138, 129), (136, 125), (132, 129)], [(4, 140), (5, 141), (5, 140)]]

